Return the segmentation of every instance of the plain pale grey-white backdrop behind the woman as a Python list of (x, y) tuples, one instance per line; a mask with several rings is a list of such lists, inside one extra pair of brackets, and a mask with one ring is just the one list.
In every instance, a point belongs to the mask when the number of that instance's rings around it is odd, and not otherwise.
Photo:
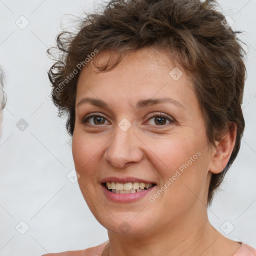
[[(84, 249), (108, 239), (77, 182), (66, 177), (74, 168), (70, 139), (64, 119), (56, 116), (57, 109), (47, 98), (46, 71), (52, 61), (45, 54), (60, 31), (60, 20), (65, 26), (71, 24), (72, 17), (64, 14), (79, 15), (100, 2), (0, 0), (0, 64), (7, 94), (0, 140), (0, 256)], [(232, 29), (245, 31), (239, 37), (248, 45), (246, 126), (240, 152), (208, 214), (213, 226), (228, 238), (256, 247), (256, 0), (218, 2), (233, 19)], [(20, 29), (26, 20), (29, 24)], [(23, 131), (16, 126), (21, 118), (28, 123)], [(20, 234), (26, 225), (29, 229)]]

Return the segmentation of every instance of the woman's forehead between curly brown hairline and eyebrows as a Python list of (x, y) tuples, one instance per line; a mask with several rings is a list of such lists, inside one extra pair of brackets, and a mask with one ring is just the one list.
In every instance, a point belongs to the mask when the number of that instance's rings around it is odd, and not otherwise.
[(96, 55), (94, 63), (91, 61), (81, 70), (77, 82), (76, 102), (85, 94), (107, 98), (110, 102), (117, 99), (118, 102), (123, 102), (127, 98), (137, 101), (142, 97), (173, 95), (182, 103), (189, 102), (189, 97), (194, 97), (189, 95), (194, 94), (190, 76), (182, 67), (172, 63), (164, 52), (151, 48), (134, 50), (124, 55), (113, 69), (98, 72), (96, 66), (107, 62), (111, 65), (117, 57), (116, 51), (100, 52)]

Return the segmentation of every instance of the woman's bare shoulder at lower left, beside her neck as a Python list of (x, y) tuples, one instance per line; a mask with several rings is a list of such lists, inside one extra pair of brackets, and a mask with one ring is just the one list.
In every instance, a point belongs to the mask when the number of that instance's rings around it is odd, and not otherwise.
[(101, 256), (107, 244), (108, 241), (105, 241), (97, 246), (89, 247), (84, 250), (68, 250), (58, 253), (43, 254), (41, 256)]

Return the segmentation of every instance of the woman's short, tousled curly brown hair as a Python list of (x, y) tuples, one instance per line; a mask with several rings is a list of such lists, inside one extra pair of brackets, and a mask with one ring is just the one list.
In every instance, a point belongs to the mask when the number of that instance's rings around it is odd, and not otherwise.
[[(114, 68), (127, 52), (146, 46), (174, 53), (175, 61), (192, 76), (209, 141), (216, 146), (230, 123), (237, 124), (227, 165), (222, 172), (212, 173), (208, 205), (240, 147), (246, 78), (246, 53), (236, 37), (241, 31), (233, 31), (215, 7), (215, 0), (111, 0), (102, 10), (86, 13), (78, 21), (77, 32), (62, 31), (57, 36), (55, 48), (60, 55), (48, 71), (52, 100), (58, 107), (58, 116), (67, 116), (66, 128), (72, 136), (80, 71), (77, 67), (81, 63), (84, 66), (93, 52), (119, 52), (114, 65), (106, 63), (98, 67), (99, 71)], [(51, 49), (47, 50), (50, 56)]]

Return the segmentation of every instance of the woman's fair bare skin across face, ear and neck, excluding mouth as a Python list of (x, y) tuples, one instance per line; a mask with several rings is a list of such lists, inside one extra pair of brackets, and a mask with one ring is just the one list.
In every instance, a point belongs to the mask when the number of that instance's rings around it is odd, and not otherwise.
[[(97, 63), (107, 61), (108, 53), (98, 53)], [(211, 173), (221, 172), (227, 164), (236, 126), (215, 149), (207, 139), (189, 75), (178, 66), (183, 75), (174, 80), (169, 75), (174, 66), (178, 65), (163, 52), (143, 48), (125, 55), (110, 71), (93, 72), (96, 68), (91, 62), (80, 72), (72, 154), (82, 195), (107, 229), (110, 244), (103, 256), (231, 256), (240, 247), (213, 228), (206, 207)], [(170, 102), (135, 106), (139, 100), (167, 96), (183, 107)], [(84, 97), (100, 99), (109, 109), (88, 102), (78, 105)], [(104, 118), (81, 123), (89, 114)], [(154, 114), (165, 114), (172, 121), (162, 117), (161, 125)], [(123, 118), (131, 124), (126, 131), (118, 126)], [(198, 151), (200, 156), (149, 201)], [(135, 201), (114, 202), (102, 192), (100, 180), (108, 176), (133, 176), (156, 185)], [(123, 221), (130, 227), (126, 233), (118, 228)]]

